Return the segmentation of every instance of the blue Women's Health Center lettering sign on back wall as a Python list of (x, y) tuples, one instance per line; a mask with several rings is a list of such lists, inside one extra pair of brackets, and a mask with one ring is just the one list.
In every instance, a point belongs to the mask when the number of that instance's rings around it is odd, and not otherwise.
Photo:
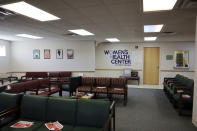
[(130, 66), (131, 58), (128, 50), (104, 50), (104, 54), (110, 57), (111, 64), (118, 66)]

